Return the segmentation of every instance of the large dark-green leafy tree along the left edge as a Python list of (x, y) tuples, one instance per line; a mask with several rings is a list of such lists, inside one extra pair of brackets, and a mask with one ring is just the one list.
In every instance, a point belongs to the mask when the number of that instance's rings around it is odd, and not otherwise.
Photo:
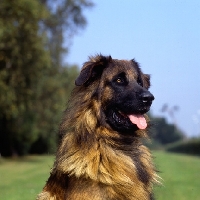
[[(3, 155), (24, 153), (37, 134), (37, 81), (48, 70), (50, 56), (43, 48), (39, 22), (47, 17), (37, 1), (1, 1), (0, 4), (0, 146)], [(31, 124), (29, 123), (31, 121)], [(22, 152), (20, 152), (22, 151)]]

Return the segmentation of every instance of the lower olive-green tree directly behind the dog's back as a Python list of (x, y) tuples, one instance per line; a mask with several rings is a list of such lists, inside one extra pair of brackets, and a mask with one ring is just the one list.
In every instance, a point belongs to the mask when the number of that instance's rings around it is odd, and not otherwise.
[(77, 75), (78, 68), (72, 66), (62, 68), (54, 76), (43, 78), (38, 91), (38, 103), (33, 106), (37, 113), (39, 136), (31, 145), (30, 153), (55, 152), (58, 141), (57, 128)]

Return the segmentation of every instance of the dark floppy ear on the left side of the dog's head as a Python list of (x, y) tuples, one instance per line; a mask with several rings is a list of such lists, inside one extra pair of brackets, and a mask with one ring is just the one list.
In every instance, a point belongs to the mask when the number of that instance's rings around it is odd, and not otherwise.
[(81, 86), (96, 80), (101, 76), (103, 70), (111, 60), (111, 56), (97, 55), (95, 57), (90, 57), (90, 60), (84, 63), (79, 76), (75, 80), (75, 85)]

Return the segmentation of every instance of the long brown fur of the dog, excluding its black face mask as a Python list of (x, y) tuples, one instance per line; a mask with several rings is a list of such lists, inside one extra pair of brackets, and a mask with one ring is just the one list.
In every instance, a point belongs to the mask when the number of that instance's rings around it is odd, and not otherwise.
[[(158, 176), (140, 141), (147, 130), (123, 135), (110, 127), (104, 114), (114, 95), (106, 82), (124, 70), (134, 80), (136, 71), (130, 65), (101, 55), (84, 64), (60, 126), (63, 138), (54, 166), (37, 200), (153, 199)], [(140, 73), (148, 88), (148, 75)]]

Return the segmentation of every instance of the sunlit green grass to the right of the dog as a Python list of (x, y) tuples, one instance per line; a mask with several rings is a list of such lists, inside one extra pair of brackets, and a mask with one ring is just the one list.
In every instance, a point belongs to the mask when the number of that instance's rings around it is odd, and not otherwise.
[(155, 188), (156, 199), (199, 200), (200, 157), (154, 152), (162, 186)]

